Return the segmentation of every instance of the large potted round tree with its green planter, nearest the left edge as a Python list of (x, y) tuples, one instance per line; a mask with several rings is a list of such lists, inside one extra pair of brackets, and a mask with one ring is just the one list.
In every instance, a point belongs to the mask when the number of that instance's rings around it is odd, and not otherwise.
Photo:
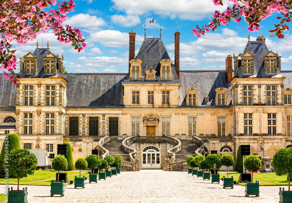
[(37, 167), (34, 153), (27, 149), (13, 149), (8, 155), (9, 172), (17, 177), (17, 190), (8, 188), (8, 202), (27, 202), (27, 187), (19, 190), (19, 179), (33, 175)]

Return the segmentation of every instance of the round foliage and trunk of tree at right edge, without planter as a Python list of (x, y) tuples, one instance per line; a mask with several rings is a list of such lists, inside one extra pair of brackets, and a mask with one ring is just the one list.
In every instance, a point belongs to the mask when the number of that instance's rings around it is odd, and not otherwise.
[(279, 149), (273, 156), (272, 164), (276, 175), (288, 175), (288, 191), (292, 174), (292, 148)]

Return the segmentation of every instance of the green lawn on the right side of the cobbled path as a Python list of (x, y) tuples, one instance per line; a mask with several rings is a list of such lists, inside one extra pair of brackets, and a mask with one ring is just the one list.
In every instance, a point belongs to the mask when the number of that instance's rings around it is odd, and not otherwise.
[[(220, 178), (227, 177), (226, 173), (220, 173)], [(228, 173), (228, 177), (233, 176), (234, 181), (239, 180), (240, 173)], [(236, 177), (235, 177), (236, 176)], [(288, 181), (286, 180), (287, 176), (277, 176), (275, 173), (254, 173), (253, 180), (259, 180), (260, 186), (276, 186), (276, 185), (288, 185)], [(264, 182), (261, 182), (264, 181)], [(244, 185), (244, 183), (239, 183), (240, 185)]]

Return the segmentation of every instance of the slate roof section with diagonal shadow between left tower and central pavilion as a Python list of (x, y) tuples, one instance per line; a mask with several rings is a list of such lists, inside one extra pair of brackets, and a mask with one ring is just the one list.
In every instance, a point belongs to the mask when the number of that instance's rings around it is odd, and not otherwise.
[(74, 106), (122, 106), (122, 80), (127, 73), (64, 74), (67, 79), (67, 108)]

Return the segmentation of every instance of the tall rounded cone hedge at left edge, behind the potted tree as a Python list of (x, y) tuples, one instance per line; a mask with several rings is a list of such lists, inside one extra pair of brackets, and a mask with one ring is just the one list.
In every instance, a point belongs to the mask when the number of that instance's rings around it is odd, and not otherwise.
[[(8, 147), (8, 149), (7, 149)], [(3, 165), (4, 165), (4, 157), (5, 154), (8, 154), (13, 149), (21, 149), (20, 145), (20, 138), (18, 134), (16, 133), (9, 133), (4, 138), (4, 142), (2, 145), (1, 153), (0, 153), (0, 178), (4, 178), (6, 172), (4, 171)], [(7, 152), (7, 153), (6, 153)], [(5, 164), (7, 165), (7, 164)], [(9, 170), (9, 177), (16, 177), (11, 174), (11, 170)]]

